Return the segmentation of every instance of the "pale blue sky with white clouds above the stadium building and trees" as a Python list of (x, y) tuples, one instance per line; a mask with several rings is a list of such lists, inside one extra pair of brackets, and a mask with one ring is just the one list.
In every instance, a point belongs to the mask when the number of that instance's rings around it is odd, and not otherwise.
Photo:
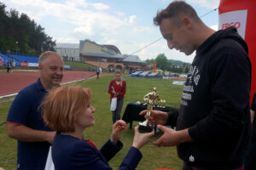
[[(121, 54), (133, 54), (161, 35), (154, 26), (157, 10), (166, 8), (172, 0), (0, 0), (10, 8), (27, 14), (56, 42), (79, 43), (90, 39), (99, 44), (112, 44)], [(202, 16), (218, 8), (219, 0), (187, 0)], [(218, 10), (201, 18), (207, 26), (217, 30)], [(140, 59), (154, 59), (166, 54), (168, 59), (192, 62), (195, 54), (186, 56), (167, 48), (161, 39), (137, 52)]]

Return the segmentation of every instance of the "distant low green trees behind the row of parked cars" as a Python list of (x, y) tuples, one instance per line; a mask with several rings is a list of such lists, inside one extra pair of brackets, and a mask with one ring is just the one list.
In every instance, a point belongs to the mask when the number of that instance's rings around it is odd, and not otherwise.
[(178, 60), (167, 59), (165, 54), (158, 54), (156, 59), (147, 59), (146, 64), (150, 65), (149, 69), (153, 69), (154, 61), (157, 62), (156, 67), (163, 71), (172, 71), (177, 73), (188, 73), (191, 64)]

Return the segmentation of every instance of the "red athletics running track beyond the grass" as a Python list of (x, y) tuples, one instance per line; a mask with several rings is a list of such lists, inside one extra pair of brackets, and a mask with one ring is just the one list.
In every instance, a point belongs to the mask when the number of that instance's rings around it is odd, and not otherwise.
[[(108, 73), (101, 73), (100, 76)], [(96, 72), (88, 71), (65, 71), (62, 82), (73, 82), (89, 77), (96, 77)], [(38, 72), (14, 72), (14, 73), (0, 73), (0, 97), (9, 94), (16, 94), (22, 88), (38, 80)]]

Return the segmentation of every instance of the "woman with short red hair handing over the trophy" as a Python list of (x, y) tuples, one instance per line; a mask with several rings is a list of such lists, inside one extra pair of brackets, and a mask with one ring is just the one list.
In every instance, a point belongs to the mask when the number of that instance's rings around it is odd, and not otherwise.
[[(85, 128), (95, 125), (96, 109), (90, 99), (89, 88), (72, 86), (56, 88), (44, 99), (44, 121), (57, 132), (51, 150), (55, 170), (110, 170), (108, 161), (123, 148), (119, 139), (127, 125), (121, 120), (113, 124), (110, 139), (100, 150), (90, 139), (83, 139)], [(133, 144), (119, 169), (135, 169), (143, 157), (140, 149), (152, 136), (154, 132), (138, 133), (135, 127)]]

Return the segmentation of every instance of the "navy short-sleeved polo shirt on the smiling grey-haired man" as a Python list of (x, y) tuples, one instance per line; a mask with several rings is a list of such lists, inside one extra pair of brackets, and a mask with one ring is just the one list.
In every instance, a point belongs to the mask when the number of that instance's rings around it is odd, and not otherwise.
[[(22, 89), (9, 109), (7, 122), (25, 125), (36, 130), (52, 131), (45, 125), (43, 116), (38, 109), (45, 94), (47, 91), (42, 86), (40, 78), (38, 78), (38, 82)], [(22, 142), (18, 140), (18, 169), (44, 170), (49, 146), (50, 144), (46, 141)]]

